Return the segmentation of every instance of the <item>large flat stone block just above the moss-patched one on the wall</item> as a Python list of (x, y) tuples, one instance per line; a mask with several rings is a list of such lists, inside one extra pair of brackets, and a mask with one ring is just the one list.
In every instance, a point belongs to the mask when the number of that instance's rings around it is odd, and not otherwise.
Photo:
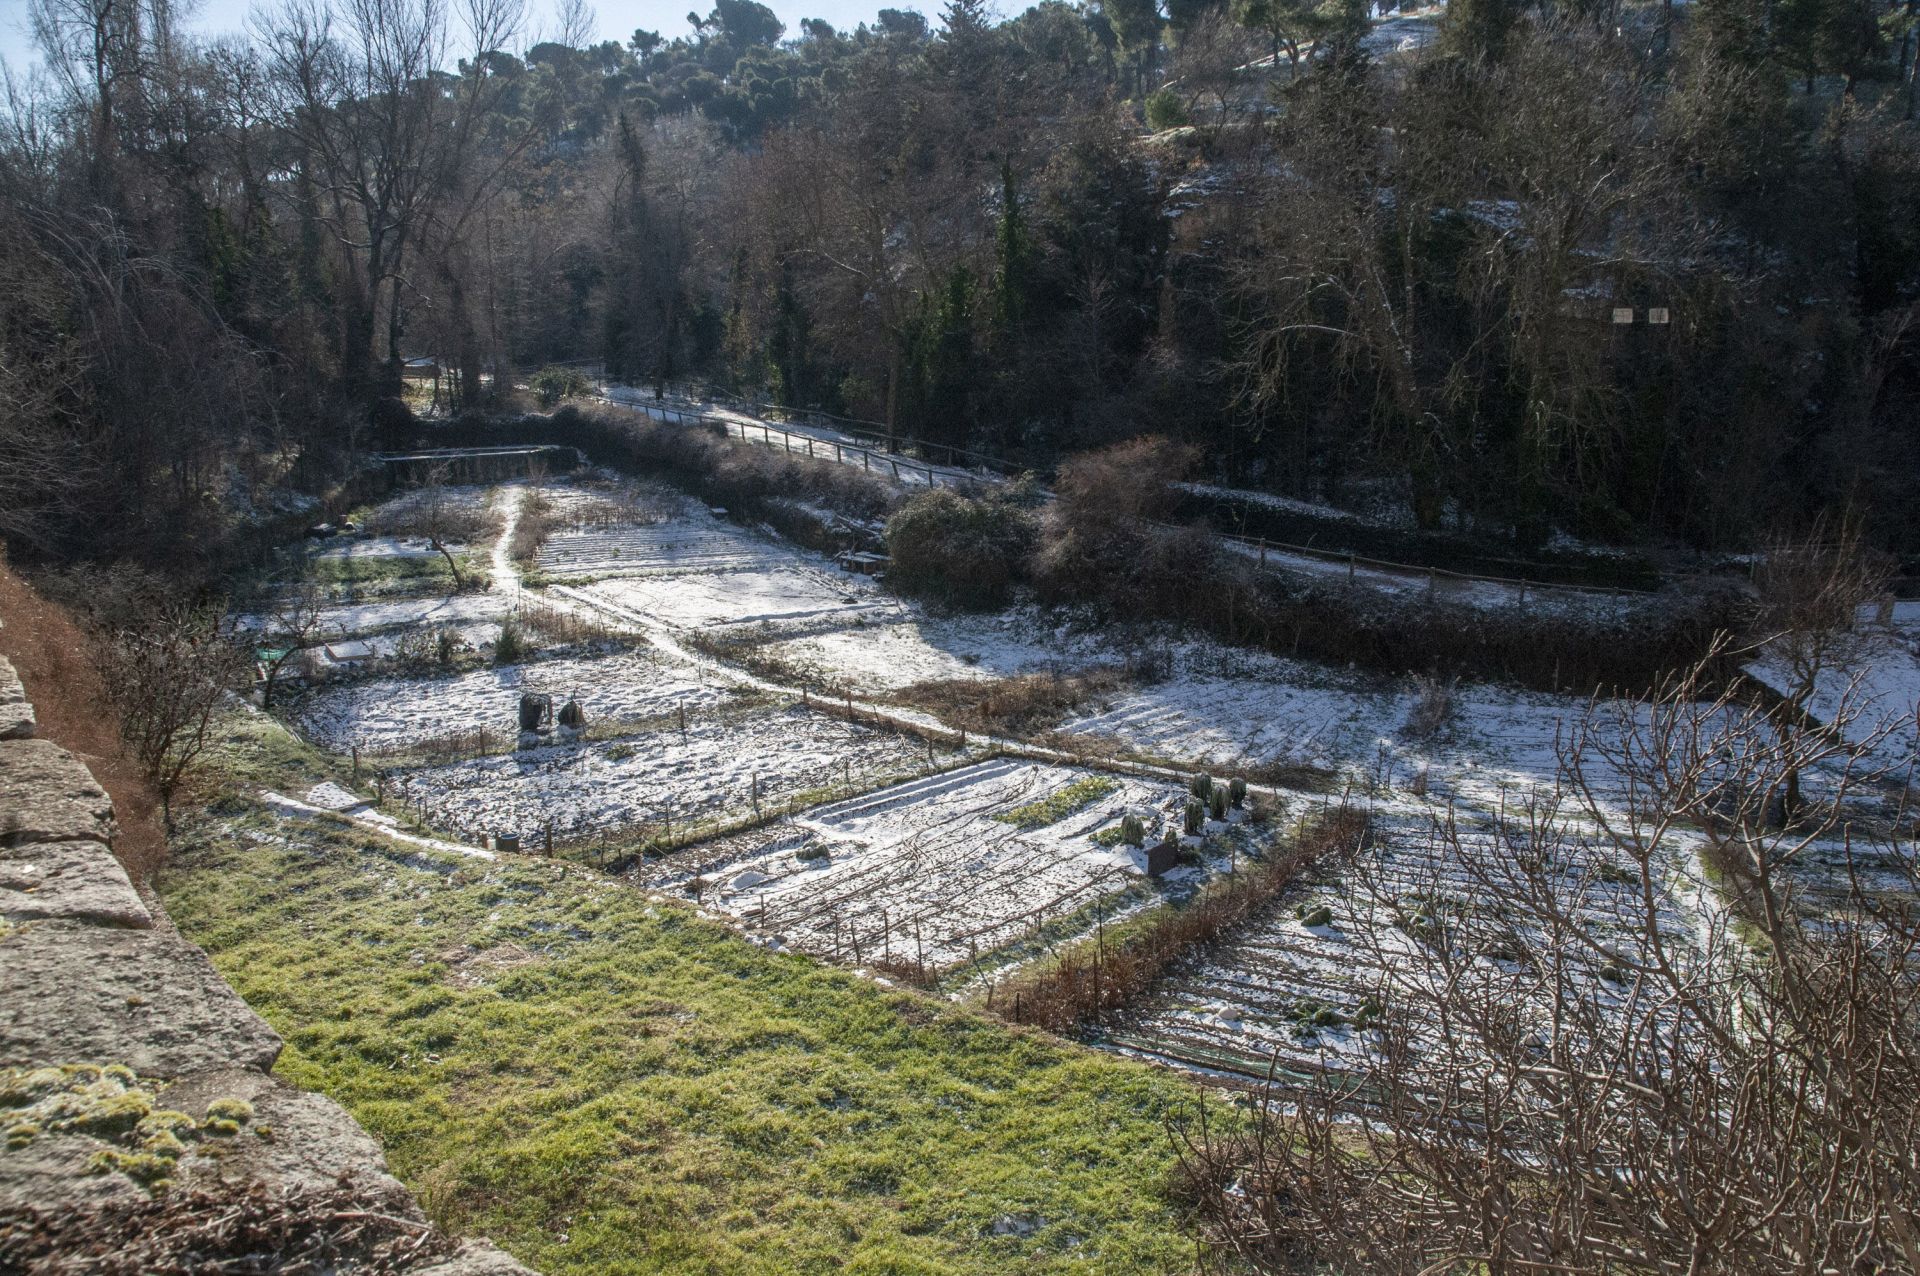
[(142, 1076), (267, 1071), (280, 1038), (171, 931), (29, 921), (0, 934), (0, 1065), (125, 1063)]

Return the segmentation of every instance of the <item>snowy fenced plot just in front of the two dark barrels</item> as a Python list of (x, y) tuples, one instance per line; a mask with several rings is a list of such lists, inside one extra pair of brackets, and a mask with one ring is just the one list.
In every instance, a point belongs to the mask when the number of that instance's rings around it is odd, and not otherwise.
[(388, 783), (428, 823), (470, 839), (555, 837), (634, 825), (689, 825), (753, 814), (828, 783), (908, 771), (924, 744), (803, 708), (687, 714), (678, 727), (611, 743), (549, 744)]

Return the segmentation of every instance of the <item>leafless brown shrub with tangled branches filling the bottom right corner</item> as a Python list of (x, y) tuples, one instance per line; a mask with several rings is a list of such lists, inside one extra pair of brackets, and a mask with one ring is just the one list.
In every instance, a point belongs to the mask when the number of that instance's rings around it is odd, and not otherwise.
[[(1382, 858), (1361, 869), (1359, 894), (1402, 921), (1367, 933), (1400, 936), (1377, 944), (1371, 1048), (1271, 1086), (1246, 1138), (1183, 1136), (1217, 1257), (1920, 1270), (1912, 825), (1862, 764), (1880, 741), (1782, 737), (1738, 691), (1707, 697), (1695, 670), (1596, 708), (1557, 792), (1490, 831), (1438, 815), (1452, 898), (1409, 902)], [(1795, 771), (1824, 791), (1784, 831), (1766, 814)], [(1724, 883), (1703, 919), (1676, 908), (1695, 850)]]

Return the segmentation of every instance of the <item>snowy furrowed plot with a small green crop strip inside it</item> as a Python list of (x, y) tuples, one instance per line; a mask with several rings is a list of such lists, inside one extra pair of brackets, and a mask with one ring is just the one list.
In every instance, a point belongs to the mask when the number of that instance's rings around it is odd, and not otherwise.
[(1160, 781), (981, 762), (806, 812), (699, 885), (783, 944), (941, 969), (1139, 886), (1121, 815), (1140, 814), (1154, 842), (1185, 798)]

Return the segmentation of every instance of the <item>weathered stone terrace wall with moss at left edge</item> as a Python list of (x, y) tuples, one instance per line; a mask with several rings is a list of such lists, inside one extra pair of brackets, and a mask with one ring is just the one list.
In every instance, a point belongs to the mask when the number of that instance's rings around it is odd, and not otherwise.
[[(351, 1190), (399, 1234), (430, 1234), (346, 1109), (269, 1075), (280, 1038), (142, 900), (111, 839), (106, 791), (79, 758), (35, 739), (33, 706), (0, 656), (0, 1268), (19, 1270), (8, 1241), (33, 1226), (44, 1238), (50, 1224), (144, 1209), (148, 1188), (136, 1180), (161, 1176), (156, 1167), (169, 1184), (159, 1201)], [(142, 1161), (152, 1144), (138, 1140), (152, 1138), (154, 1122), (134, 1122), (167, 1111), (194, 1121), (180, 1126), (186, 1151)], [(44, 1121), (48, 1113), (56, 1119)], [(244, 1115), (223, 1126), (225, 1113)], [(127, 1169), (102, 1172), (102, 1161)], [(528, 1272), (486, 1241), (430, 1241), (422, 1249), (434, 1257), (380, 1270)], [(90, 1270), (79, 1253), (40, 1257), (27, 1270)], [(334, 1270), (359, 1268), (348, 1261)]]

